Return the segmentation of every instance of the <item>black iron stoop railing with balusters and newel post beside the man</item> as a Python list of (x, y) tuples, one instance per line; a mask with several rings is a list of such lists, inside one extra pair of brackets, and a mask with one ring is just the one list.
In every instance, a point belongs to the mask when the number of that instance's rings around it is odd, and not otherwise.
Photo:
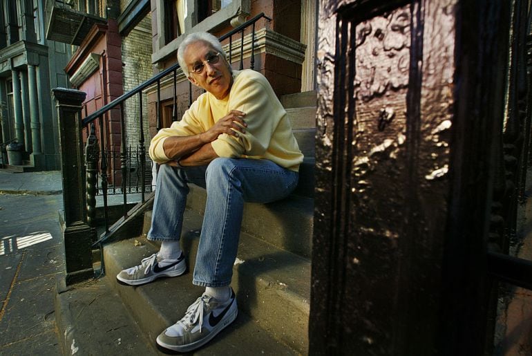
[[(244, 53), (245, 53), (245, 32), (251, 34), (251, 48), (250, 48), (250, 59), (249, 59), (249, 68), (254, 69), (255, 59), (254, 59), (254, 52), (255, 52), (255, 25), (256, 22), (259, 19), (266, 19), (267, 21), (271, 21), (268, 17), (266, 17), (263, 13), (260, 13), (256, 17), (253, 17), (252, 19), (249, 19), (249, 21), (245, 22), (245, 24), (242, 24), (227, 34), (220, 37), (220, 42), (225, 41), (226, 39), (229, 39), (229, 50), (228, 50), (228, 58), (229, 62), (232, 63), (233, 56), (236, 57), (236, 55), (240, 54), (239, 58), (239, 64), (238, 68), (243, 69), (244, 68)], [(240, 35), (240, 44), (239, 48), (234, 48), (234, 37), (238, 37)], [(235, 53), (234, 53), (235, 52)], [(73, 147), (71, 151), (77, 153), (79, 151), (85, 151), (85, 157), (80, 158), (80, 162), (85, 163), (86, 169), (82, 171), (80, 167), (77, 167), (79, 169), (79, 174), (76, 172), (70, 172), (65, 174), (65, 176), (71, 176), (73, 177), (73, 180), (76, 181), (83, 181), (85, 180), (86, 186), (79, 186), (79, 187), (69, 187), (69, 189), (65, 189), (64, 194), (68, 194), (68, 197), (64, 197), (65, 200), (72, 199), (73, 202), (75, 202), (74, 205), (77, 207), (83, 206), (84, 202), (86, 201), (86, 222), (89, 227), (91, 227), (91, 231), (93, 231), (93, 242), (92, 247), (99, 247), (100, 252), (102, 252), (103, 244), (104, 242), (108, 241), (108, 238), (111, 236), (111, 232), (109, 230), (109, 226), (111, 225), (109, 218), (108, 218), (108, 200), (107, 197), (110, 194), (110, 192), (117, 192), (119, 191), (120, 194), (123, 196), (123, 216), (122, 221), (126, 221), (126, 218), (128, 218), (128, 204), (127, 204), (127, 195), (131, 193), (140, 193), (141, 194), (141, 203), (140, 205), (144, 205), (146, 202), (146, 192), (150, 192), (151, 189), (151, 160), (149, 158), (146, 158), (146, 145), (145, 145), (145, 138), (144, 138), (144, 130), (142, 129), (144, 127), (144, 120), (146, 120), (146, 115), (144, 113), (144, 108), (142, 105), (142, 95), (143, 91), (149, 88), (156, 88), (157, 91), (157, 102), (156, 102), (156, 115), (157, 115), (157, 129), (160, 129), (162, 127), (162, 105), (161, 105), (161, 83), (165, 80), (170, 79), (173, 83), (173, 109), (172, 109), (172, 120), (178, 120), (178, 102), (177, 102), (177, 86), (178, 86), (178, 71), (180, 70), (179, 64), (175, 64), (171, 66), (170, 68), (167, 68), (166, 70), (162, 71), (158, 75), (155, 75), (151, 79), (146, 80), (146, 82), (143, 82), (142, 84), (138, 85), (137, 87), (133, 88), (133, 90), (129, 91), (128, 93), (125, 93), (124, 95), (118, 97), (117, 99), (113, 100), (109, 104), (106, 104), (101, 109), (95, 111), (94, 113), (91, 113), (90, 115), (87, 115), (86, 118), (81, 120), (81, 123), (77, 122), (75, 125), (79, 126), (79, 132), (76, 134), (78, 138), (82, 137), (82, 131), (86, 130), (86, 136), (87, 136), (87, 144), (84, 149), (81, 149), (80, 147), (75, 147), (73, 144)], [(84, 100), (84, 93), (79, 91), (65, 91), (64, 89), (54, 89), (54, 95), (57, 100), (57, 107), (59, 110), (59, 120), (62, 120), (61, 113), (67, 113), (66, 116), (69, 116), (68, 118), (65, 117), (65, 120), (79, 120), (79, 112), (76, 114), (76, 118), (73, 118), (73, 113), (71, 109), (77, 107), (81, 108), (81, 103)], [(126, 100), (130, 99), (131, 97), (135, 97), (135, 95), (138, 97), (138, 127), (140, 127), (140, 138), (138, 141), (138, 146), (135, 148), (135, 162), (132, 162), (133, 156), (131, 156), (131, 149), (127, 149), (126, 147), (126, 130), (125, 130), (125, 120), (124, 120), (124, 102)], [(74, 100), (77, 104), (73, 104), (72, 102), (69, 102), (68, 100)], [(77, 100), (77, 101), (76, 101)], [(79, 101), (81, 100), (81, 101)], [(78, 103), (79, 102), (79, 103)], [(191, 84), (189, 83), (189, 106), (192, 103), (192, 88)], [(106, 131), (108, 129), (108, 124), (106, 124), (106, 117), (108, 113), (111, 110), (120, 111), (120, 157), (117, 156), (117, 153), (108, 151), (108, 148), (105, 147), (104, 144), (101, 146), (99, 145), (99, 142), (106, 142), (105, 138), (108, 137), (109, 133)], [(95, 128), (95, 124), (98, 123), (99, 127), (99, 135), (97, 135), (97, 130)], [(68, 136), (66, 135), (66, 129), (62, 129), (63, 126), (61, 126), (61, 142), (62, 144), (69, 144)], [(65, 132), (62, 132), (65, 131)], [(99, 136), (99, 137), (97, 137)], [(82, 144), (80, 142), (79, 144)], [(64, 149), (65, 152), (68, 152), (68, 148)], [(66, 154), (66, 153), (61, 153)], [(79, 153), (81, 154), (81, 153)], [(110, 157), (111, 156), (111, 157)], [(117, 169), (117, 163), (120, 160), (120, 169)], [(65, 161), (66, 162), (66, 161)], [(70, 167), (70, 165), (63, 165), (64, 169), (73, 169)], [(134, 169), (133, 169), (134, 167)], [(117, 172), (119, 174), (117, 174)], [(132, 173), (135, 174), (135, 182), (133, 185), (131, 185), (132, 181)], [(99, 177), (98, 177), (99, 174)], [(111, 174), (111, 177), (109, 176)], [(80, 176), (86, 175), (85, 179), (78, 179)], [(111, 178), (111, 179), (110, 179)], [(109, 184), (109, 182), (113, 182), (113, 186)], [(66, 182), (66, 178), (64, 178), (64, 182)], [(120, 187), (117, 186), (117, 182), (120, 182)], [(134, 189), (132, 190), (132, 187)], [(96, 236), (95, 233), (95, 204), (96, 199), (95, 196), (97, 194), (101, 194), (103, 198), (103, 205), (104, 205), (104, 232), (99, 236), (99, 238)], [(66, 207), (67, 209), (67, 207)], [(84, 208), (82, 208), (84, 210)], [(85, 220), (85, 219), (84, 219)], [(73, 221), (72, 224), (77, 224), (77, 221)], [(68, 226), (69, 222), (68, 219), (66, 219), (66, 225)], [(76, 251), (76, 253), (78, 253)], [(68, 251), (66, 251), (66, 254), (68, 254)], [(103, 259), (102, 259), (102, 272), (103, 272)], [(67, 265), (67, 271), (68, 271), (68, 265)], [(72, 272), (74, 274), (74, 272)], [(68, 272), (67, 272), (68, 274)]]

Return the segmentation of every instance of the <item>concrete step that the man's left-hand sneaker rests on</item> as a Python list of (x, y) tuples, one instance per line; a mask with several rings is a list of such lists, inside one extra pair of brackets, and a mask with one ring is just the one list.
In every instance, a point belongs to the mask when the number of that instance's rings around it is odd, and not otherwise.
[[(187, 307), (204, 290), (191, 284), (201, 223), (202, 216), (187, 209), (181, 239), (189, 263), (190, 271), (187, 274), (158, 279), (137, 287), (113, 283), (113, 288), (144, 330), (144, 335), (151, 340), (182, 317)], [(104, 261), (107, 278), (114, 279), (120, 270), (137, 265), (158, 249), (157, 244), (147, 241), (144, 236), (106, 245)], [(267, 334), (260, 335), (263, 340), (272, 340), (273, 337), (281, 341), (281, 344), (268, 341), (278, 351), (268, 351), (267, 354), (307, 353), (310, 261), (246, 233), (240, 235), (237, 258), (232, 287), (237, 294), (240, 315), (246, 313), (267, 331)], [(229, 337), (233, 332), (238, 332), (238, 325), (231, 325), (227, 329), (226, 335)], [(238, 354), (260, 354), (260, 345), (257, 344), (257, 349), (251, 349), (249, 353)]]

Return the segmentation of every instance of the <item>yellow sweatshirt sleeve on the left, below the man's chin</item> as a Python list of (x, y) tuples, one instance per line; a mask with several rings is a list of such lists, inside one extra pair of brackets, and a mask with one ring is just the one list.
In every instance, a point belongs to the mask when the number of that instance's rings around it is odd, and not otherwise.
[(171, 158), (164, 154), (164, 140), (170, 136), (190, 136), (205, 132), (205, 122), (202, 122), (198, 117), (198, 108), (202, 106), (202, 100), (205, 98), (198, 97), (198, 100), (193, 102), (190, 108), (184, 112), (180, 121), (175, 121), (171, 127), (167, 129), (160, 129), (159, 132), (153, 136), (150, 142), (149, 155), (150, 158), (157, 163), (168, 162)]

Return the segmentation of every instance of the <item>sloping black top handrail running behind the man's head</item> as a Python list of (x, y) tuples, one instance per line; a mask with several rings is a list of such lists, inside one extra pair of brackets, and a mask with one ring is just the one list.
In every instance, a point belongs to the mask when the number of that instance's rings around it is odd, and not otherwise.
[[(227, 32), (225, 35), (222, 35), (221, 37), (218, 38), (218, 40), (221, 42), (221, 41), (227, 39), (228, 37), (230, 37), (232, 35), (235, 35), (236, 33), (238, 33), (240, 31), (244, 30), (245, 28), (247, 28), (247, 26), (249, 26), (251, 24), (254, 24), (256, 21), (258, 21), (258, 19), (260, 19), (262, 17), (267, 19), (267, 21), (272, 21), (272, 19), (270, 19), (269, 17), (264, 15), (264, 12), (260, 12), (260, 14), (256, 15), (252, 19), (249, 19), (244, 24), (241, 24), (240, 26), (238, 26), (238, 27), (234, 28), (233, 30)], [(113, 109), (115, 106), (120, 105), (122, 102), (124, 102), (125, 100), (129, 99), (129, 97), (132, 97), (133, 95), (139, 93), (144, 88), (147, 88), (147, 87), (151, 86), (152, 84), (155, 84), (160, 79), (162, 79), (162, 78), (166, 77), (167, 75), (169, 75), (169, 73), (172, 73), (173, 71), (177, 71), (178, 68), (180, 68), (179, 63), (176, 63), (173, 66), (165, 69), (164, 71), (162, 71), (158, 75), (155, 75), (155, 76), (151, 77), (151, 79), (146, 80), (146, 82), (139, 84), (135, 88), (131, 89), (131, 91), (120, 95), (120, 97), (117, 97), (115, 100), (113, 100), (109, 104), (106, 104), (101, 109), (98, 109), (94, 113), (91, 113), (91, 115), (88, 115), (86, 118), (84, 118), (82, 120), (82, 127), (86, 127), (88, 124), (90, 124), (91, 122), (96, 120), (99, 116), (101, 116), (104, 113), (106, 113), (107, 111)]]

